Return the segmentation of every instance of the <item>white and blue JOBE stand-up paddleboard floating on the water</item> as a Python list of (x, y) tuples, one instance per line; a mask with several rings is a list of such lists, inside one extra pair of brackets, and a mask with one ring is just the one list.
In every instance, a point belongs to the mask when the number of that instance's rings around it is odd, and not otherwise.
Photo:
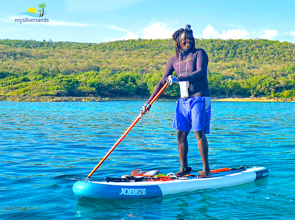
[(213, 172), (210, 178), (196, 178), (194, 175), (188, 177), (164, 176), (162, 178), (143, 175), (123, 176), (122, 178), (106, 177), (105, 182), (80, 180), (73, 185), (73, 192), (77, 196), (89, 198), (157, 198), (197, 190), (237, 186), (269, 175), (268, 169), (264, 167), (224, 168), (221, 170), (225, 171)]

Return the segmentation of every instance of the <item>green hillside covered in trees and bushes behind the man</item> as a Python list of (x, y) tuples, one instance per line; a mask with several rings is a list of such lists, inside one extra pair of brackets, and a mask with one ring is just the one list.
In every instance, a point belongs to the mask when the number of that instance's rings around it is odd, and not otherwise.
[[(295, 97), (295, 44), (199, 40), (213, 97)], [(167, 40), (101, 44), (0, 40), (0, 95), (148, 96), (174, 54)], [(178, 97), (178, 87), (166, 89)]]

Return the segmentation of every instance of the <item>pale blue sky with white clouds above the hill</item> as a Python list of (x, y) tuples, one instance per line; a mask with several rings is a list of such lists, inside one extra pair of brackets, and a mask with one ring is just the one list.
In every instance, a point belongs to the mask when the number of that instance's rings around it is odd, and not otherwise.
[(198, 39), (295, 43), (295, 0), (0, 0), (0, 39), (168, 39), (186, 24)]

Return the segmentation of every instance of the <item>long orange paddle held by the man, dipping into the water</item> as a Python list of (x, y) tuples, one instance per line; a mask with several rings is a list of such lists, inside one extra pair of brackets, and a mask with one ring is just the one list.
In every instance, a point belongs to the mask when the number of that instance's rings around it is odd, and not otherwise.
[[(156, 101), (156, 99), (159, 97), (159, 95), (164, 91), (164, 89), (168, 86), (166, 83), (161, 90), (155, 95), (155, 97), (150, 101), (148, 108)], [(135, 119), (135, 121), (130, 125), (130, 127), (126, 130), (126, 132), (120, 137), (120, 139), (115, 143), (115, 145), (109, 150), (107, 154), (105, 154), (104, 158), (96, 165), (96, 167), (91, 171), (91, 173), (84, 179), (84, 180), (89, 180), (90, 176), (97, 170), (97, 168), (100, 167), (100, 165), (105, 161), (105, 159), (108, 157), (109, 154), (113, 152), (113, 150), (118, 146), (118, 144), (123, 140), (123, 138), (127, 135), (128, 132), (133, 128), (133, 126), (139, 121), (139, 119), (143, 116), (143, 114), (139, 114), (138, 117)]]

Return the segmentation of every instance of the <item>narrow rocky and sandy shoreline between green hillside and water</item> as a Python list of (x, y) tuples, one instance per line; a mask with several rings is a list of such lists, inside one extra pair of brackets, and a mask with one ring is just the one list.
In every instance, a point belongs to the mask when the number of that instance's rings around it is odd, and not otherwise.
[[(0, 101), (12, 102), (103, 102), (103, 101), (146, 101), (146, 97), (94, 97), (94, 96), (7, 96), (0, 95)], [(159, 98), (158, 101), (177, 101), (175, 99)], [(295, 102), (294, 98), (211, 98), (212, 102)]]

